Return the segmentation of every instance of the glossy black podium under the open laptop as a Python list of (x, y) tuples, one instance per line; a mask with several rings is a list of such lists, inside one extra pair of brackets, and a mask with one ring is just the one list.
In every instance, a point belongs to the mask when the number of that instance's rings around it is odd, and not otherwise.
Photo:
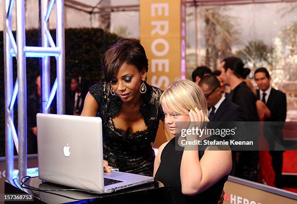
[[(33, 177), (27, 185), (42, 189), (67, 189), (61, 185), (56, 185), (41, 181), (38, 177)], [(18, 179), (5, 181), (5, 194), (30, 194), (33, 195), (34, 203), (61, 204), (61, 203), (129, 203), (129, 204), (171, 204), (171, 187), (164, 186), (160, 182), (130, 187), (113, 193), (88, 194), (81, 191), (36, 191), (23, 189)], [(33, 203), (31, 202), (31, 203)], [(10, 202), (5, 202), (10, 203)], [(15, 202), (14, 202), (15, 203)], [(29, 202), (26, 202), (27, 204)]]

